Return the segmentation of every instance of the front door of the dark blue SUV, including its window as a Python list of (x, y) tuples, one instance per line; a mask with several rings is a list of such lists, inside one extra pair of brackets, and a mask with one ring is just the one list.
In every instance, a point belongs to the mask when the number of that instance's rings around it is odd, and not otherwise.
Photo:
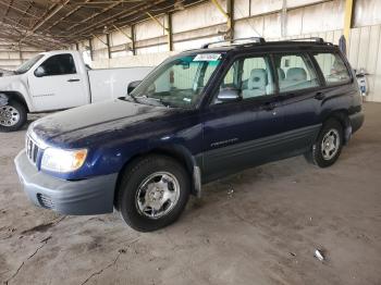
[[(282, 131), (283, 116), (273, 78), (270, 59), (265, 55), (237, 59), (223, 76), (202, 119), (205, 181), (270, 161), (276, 154), (275, 135)], [(221, 100), (226, 90), (239, 99)]]

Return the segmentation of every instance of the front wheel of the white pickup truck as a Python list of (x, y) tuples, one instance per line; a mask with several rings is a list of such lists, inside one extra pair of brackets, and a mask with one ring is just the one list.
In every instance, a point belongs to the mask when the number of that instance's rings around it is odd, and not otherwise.
[(0, 132), (14, 132), (24, 126), (27, 119), (26, 108), (23, 103), (11, 100), (0, 107)]

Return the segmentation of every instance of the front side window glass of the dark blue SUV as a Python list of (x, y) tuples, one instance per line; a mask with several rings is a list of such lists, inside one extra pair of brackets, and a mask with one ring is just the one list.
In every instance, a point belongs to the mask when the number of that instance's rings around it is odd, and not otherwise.
[[(269, 59), (253, 57), (236, 60), (220, 85), (219, 91), (223, 90), (234, 90), (243, 100), (273, 95), (274, 80)], [(214, 103), (222, 101), (217, 97)]]

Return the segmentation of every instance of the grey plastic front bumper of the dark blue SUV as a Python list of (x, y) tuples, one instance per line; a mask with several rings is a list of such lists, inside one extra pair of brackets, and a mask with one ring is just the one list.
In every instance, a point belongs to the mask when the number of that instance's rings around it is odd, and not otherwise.
[(64, 181), (39, 172), (21, 151), (14, 159), (28, 198), (42, 208), (62, 214), (101, 214), (113, 211), (118, 174), (82, 181)]

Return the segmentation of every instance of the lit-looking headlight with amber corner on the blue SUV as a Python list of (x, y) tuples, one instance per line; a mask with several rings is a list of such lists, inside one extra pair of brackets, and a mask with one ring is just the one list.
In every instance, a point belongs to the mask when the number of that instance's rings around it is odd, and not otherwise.
[(44, 151), (41, 169), (54, 172), (72, 172), (79, 169), (87, 156), (87, 149), (64, 150), (47, 148)]

